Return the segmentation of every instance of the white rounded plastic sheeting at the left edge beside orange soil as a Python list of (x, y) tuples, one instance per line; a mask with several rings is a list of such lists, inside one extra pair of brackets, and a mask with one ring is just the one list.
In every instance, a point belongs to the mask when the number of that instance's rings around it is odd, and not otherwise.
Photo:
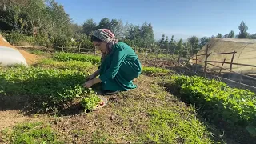
[(0, 46), (0, 65), (8, 66), (14, 64), (27, 66), (26, 59), (18, 50), (14, 50), (6, 46)]

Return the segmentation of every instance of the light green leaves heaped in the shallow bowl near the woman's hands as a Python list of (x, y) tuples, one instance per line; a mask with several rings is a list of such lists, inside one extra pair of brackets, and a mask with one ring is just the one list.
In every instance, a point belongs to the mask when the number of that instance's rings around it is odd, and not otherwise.
[(86, 110), (93, 110), (101, 102), (101, 98), (98, 98), (96, 93), (91, 89), (86, 91), (86, 97), (82, 98), (81, 104)]

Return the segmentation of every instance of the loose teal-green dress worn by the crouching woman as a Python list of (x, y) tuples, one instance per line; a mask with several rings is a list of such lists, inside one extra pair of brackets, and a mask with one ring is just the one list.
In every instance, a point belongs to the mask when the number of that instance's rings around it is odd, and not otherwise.
[(102, 89), (123, 91), (134, 89), (132, 80), (142, 72), (141, 63), (134, 50), (126, 43), (118, 42), (112, 47), (100, 66)]

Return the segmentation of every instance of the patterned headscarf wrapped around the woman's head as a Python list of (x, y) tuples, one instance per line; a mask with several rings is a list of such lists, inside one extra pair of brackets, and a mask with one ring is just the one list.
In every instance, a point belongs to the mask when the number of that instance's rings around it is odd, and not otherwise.
[(95, 30), (92, 35), (102, 40), (103, 42), (106, 42), (106, 46), (107, 46), (106, 53), (102, 53), (102, 58), (101, 58), (101, 62), (102, 62), (106, 57), (106, 55), (110, 54), (112, 50), (112, 46), (118, 43), (118, 39), (116, 39), (114, 34), (108, 29)]

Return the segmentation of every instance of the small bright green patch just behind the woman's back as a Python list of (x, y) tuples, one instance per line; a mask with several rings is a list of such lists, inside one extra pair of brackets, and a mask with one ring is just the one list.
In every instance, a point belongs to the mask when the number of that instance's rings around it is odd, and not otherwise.
[(142, 74), (146, 74), (148, 76), (166, 75), (169, 72), (170, 70), (165, 70), (158, 67), (142, 67)]

